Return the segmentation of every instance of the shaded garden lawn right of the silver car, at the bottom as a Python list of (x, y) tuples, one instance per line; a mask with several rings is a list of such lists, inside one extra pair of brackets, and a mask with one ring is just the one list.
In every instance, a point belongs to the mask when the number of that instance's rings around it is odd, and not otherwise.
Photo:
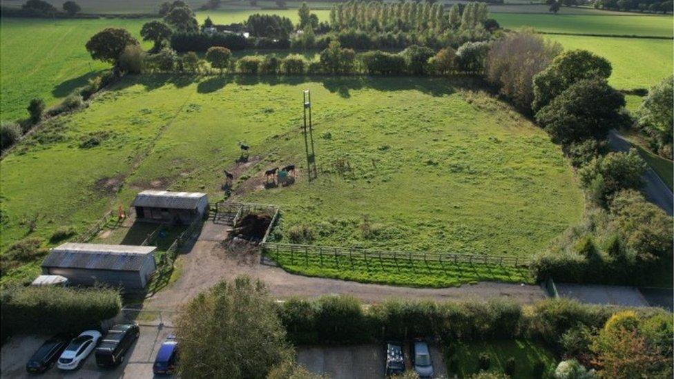
[(535, 366), (542, 362), (546, 371), (556, 363), (555, 356), (543, 345), (531, 340), (488, 340), (474, 342), (452, 342), (447, 348), (447, 371), (459, 378), (468, 378), (480, 371), (479, 358), (482, 353), (490, 356), (488, 371), (503, 372), (505, 362), (515, 360), (512, 378), (535, 379)]

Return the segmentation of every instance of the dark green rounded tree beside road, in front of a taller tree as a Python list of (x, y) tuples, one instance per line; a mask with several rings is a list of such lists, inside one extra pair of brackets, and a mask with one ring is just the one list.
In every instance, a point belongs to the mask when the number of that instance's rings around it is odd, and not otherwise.
[(624, 106), (625, 97), (606, 81), (583, 79), (541, 108), (536, 121), (561, 144), (604, 139), (611, 128), (628, 125), (629, 118), (620, 112)]

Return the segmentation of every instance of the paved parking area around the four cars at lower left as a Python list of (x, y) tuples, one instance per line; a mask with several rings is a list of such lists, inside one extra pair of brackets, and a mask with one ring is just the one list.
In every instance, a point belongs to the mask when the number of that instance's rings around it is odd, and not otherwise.
[[(75, 371), (48, 370), (42, 378), (153, 378), (152, 364), (162, 341), (172, 327), (141, 326), (140, 336), (115, 369), (97, 367), (91, 353), (84, 366)], [(15, 336), (0, 349), (0, 378), (35, 378), (26, 373), (26, 362), (49, 336)]]

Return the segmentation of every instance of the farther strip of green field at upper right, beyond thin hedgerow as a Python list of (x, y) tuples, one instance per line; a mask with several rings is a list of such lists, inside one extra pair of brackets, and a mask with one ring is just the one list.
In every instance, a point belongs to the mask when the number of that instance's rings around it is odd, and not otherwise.
[[(493, 14), (502, 27), (530, 26), (541, 32), (672, 37), (674, 17), (662, 15)], [(588, 46), (589, 47), (589, 46)]]

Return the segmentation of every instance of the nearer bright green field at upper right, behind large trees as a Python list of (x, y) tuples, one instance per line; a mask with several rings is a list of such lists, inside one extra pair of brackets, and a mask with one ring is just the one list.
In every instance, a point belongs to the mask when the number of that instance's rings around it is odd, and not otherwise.
[(586, 49), (613, 66), (609, 83), (615, 88), (649, 88), (674, 71), (671, 39), (607, 38), (547, 35), (565, 49)]

